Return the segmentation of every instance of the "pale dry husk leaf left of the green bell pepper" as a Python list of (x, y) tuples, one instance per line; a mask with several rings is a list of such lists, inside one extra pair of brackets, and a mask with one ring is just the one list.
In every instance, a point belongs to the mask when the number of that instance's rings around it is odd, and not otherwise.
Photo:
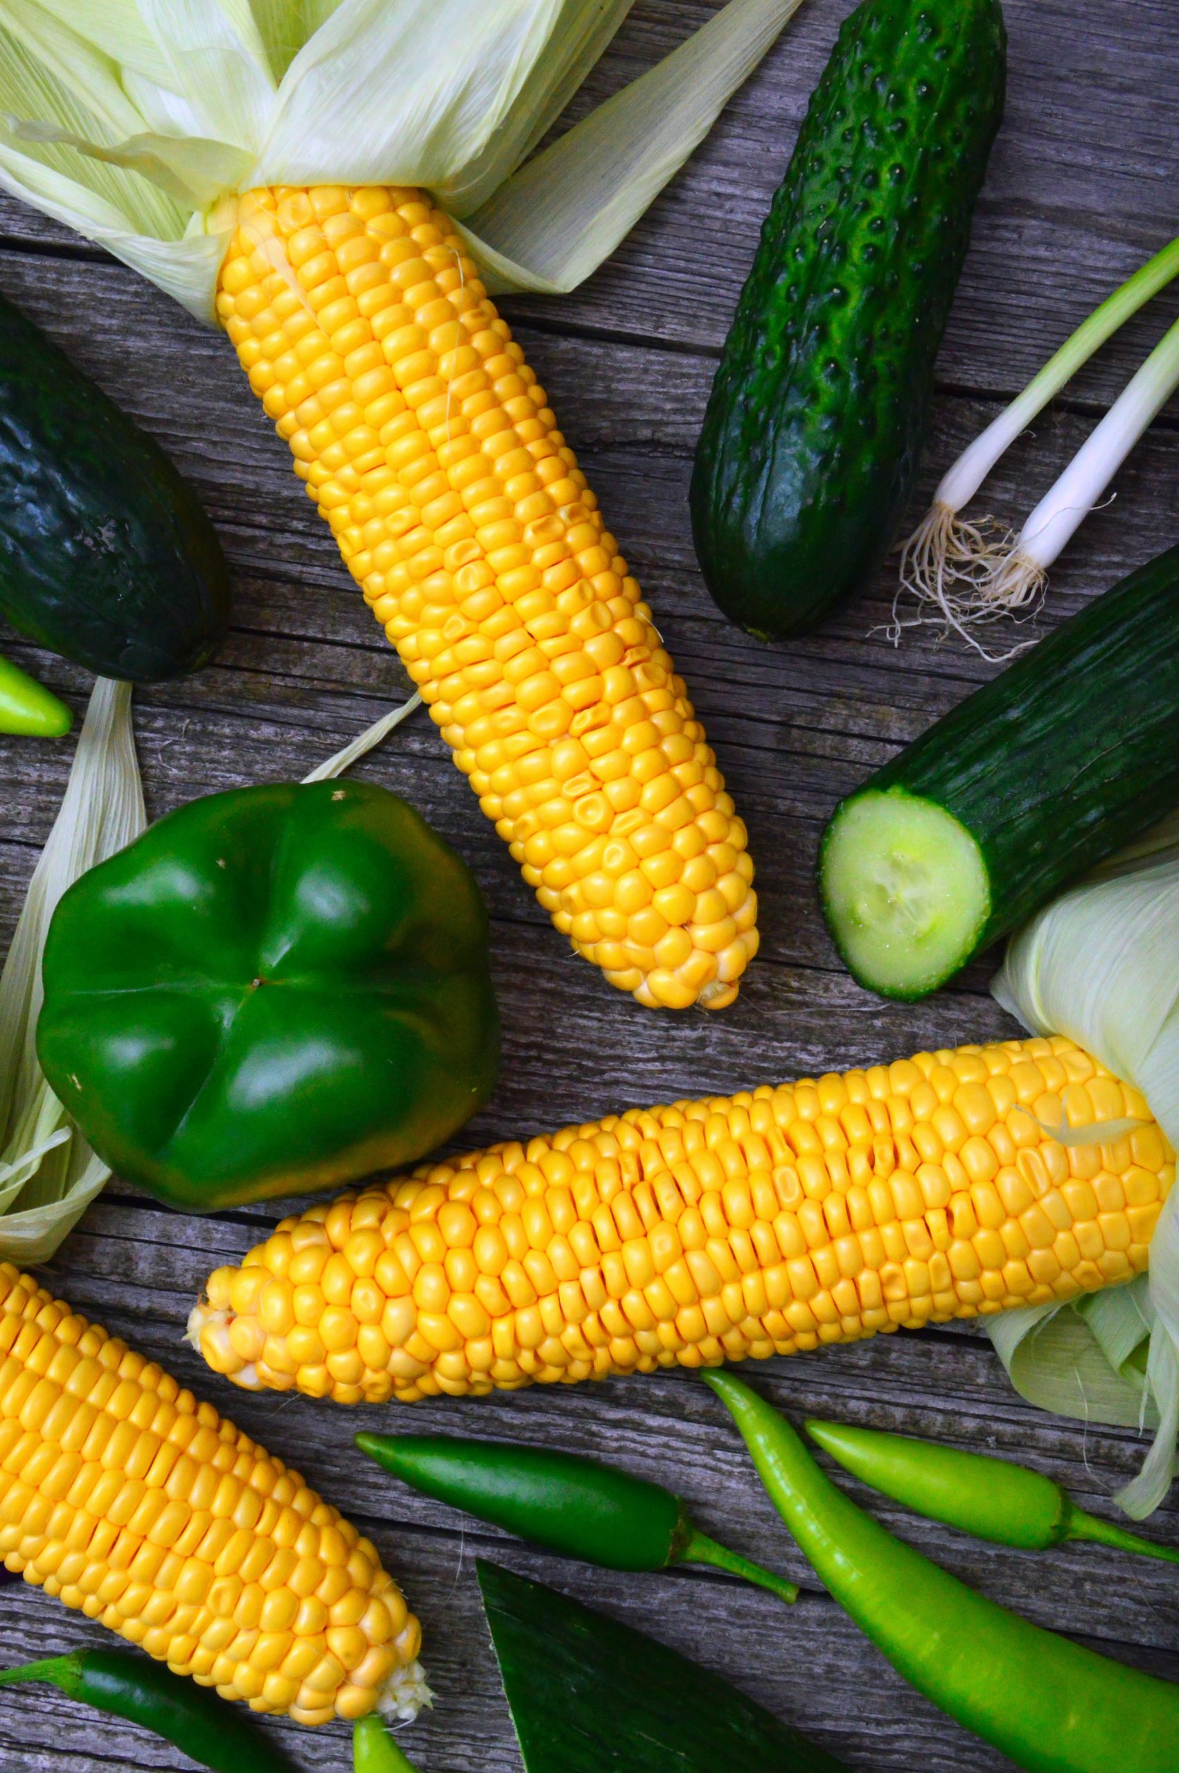
[(21, 1266), (44, 1262), (57, 1250), (110, 1175), (37, 1064), (46, 931), (66, 888), (138, 837), (145, 823), (131, 684), (99, 677), (0, 973), (0, 1257)]

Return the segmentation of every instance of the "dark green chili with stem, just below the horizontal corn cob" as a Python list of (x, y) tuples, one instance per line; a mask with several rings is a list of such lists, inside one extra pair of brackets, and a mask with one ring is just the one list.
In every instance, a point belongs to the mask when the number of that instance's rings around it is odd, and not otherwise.
[(699, 1532), (670, 1489), (612, 1464), (447, 1434), (358, 1434), (356, 1445), (422, 1495), (550, 1551), (605, 1569), (714, 1564), (782, 1601), (798, 1599), (793, 1582)]

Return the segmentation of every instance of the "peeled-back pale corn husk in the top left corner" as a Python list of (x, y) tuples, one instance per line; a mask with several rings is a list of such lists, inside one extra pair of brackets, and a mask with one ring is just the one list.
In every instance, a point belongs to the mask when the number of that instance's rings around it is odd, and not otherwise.
[(257, 184), (422, 186), (493, 289), (571, 289), (798, 5), (729, 0), (530, 158), (631, 0), (0, 0), (0, 186), (202, 319)]

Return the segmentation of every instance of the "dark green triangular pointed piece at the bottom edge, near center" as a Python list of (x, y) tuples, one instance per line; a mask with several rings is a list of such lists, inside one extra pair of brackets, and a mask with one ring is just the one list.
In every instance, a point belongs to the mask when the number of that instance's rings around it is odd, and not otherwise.
[(847, 1773), (645, 1633), (498, 1564), (477, 1569), (527, 1773)]

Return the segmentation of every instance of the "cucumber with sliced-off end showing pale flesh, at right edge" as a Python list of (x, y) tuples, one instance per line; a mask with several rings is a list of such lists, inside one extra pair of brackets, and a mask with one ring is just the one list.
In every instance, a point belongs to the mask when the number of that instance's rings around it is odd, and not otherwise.
[(1179, 803), (1179, 548), (975, 690), (835, 808), (847, 968), (918, 998)]

